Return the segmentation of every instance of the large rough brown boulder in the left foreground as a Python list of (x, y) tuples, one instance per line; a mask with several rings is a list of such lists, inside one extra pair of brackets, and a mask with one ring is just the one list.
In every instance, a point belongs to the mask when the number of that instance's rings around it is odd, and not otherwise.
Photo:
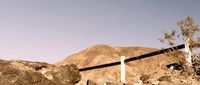
[(0, 60), (0, 85), (74, 85), (80, 79), (76, 65)]

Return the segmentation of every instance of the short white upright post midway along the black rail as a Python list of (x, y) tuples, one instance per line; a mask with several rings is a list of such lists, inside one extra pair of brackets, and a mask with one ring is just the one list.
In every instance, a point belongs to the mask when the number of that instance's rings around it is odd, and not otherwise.
[(125, 84), (125, 78), (126, 78), (126, 74), (125, 74), (125, 63), (124, 63), (124, 60), (125, 60), (125, 56), (121, 56), (121, 82), (122, 84)]

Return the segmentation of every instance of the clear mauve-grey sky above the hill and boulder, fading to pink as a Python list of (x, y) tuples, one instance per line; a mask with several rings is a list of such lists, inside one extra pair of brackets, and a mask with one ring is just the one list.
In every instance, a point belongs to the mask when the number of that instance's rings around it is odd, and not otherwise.
[(0, 58), (58, 62), (95, 44), (160, 48), (200, 0), (0, 0)]

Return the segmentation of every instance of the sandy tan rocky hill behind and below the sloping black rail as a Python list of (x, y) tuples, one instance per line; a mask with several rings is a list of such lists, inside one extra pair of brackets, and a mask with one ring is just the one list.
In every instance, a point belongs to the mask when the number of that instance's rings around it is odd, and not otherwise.
[[(95, 66), (119, 61), (120, 56), (126, 58), (138, 56), (158, 49), (144, 47), (113, 47), (108, 45), (95, 45), (79, 53), (68, 56), (57, 66), (75, 64), (78, 68)], [(184, 75), (183, 71), (171, 70), (166, 66), (177, 63), (183, 59), (183, 53), (178, 57), (166, 54), (126, 63), (126, 82), (129, 85), (196, 85), (198, 81)], [(187, 74), (191, 75), (191, 74)], [(92, 81), (97, 85), (120, 82), (120, 66), (112, 66), (81, 72), (82, 79), (77, 85), (86, 85)]]

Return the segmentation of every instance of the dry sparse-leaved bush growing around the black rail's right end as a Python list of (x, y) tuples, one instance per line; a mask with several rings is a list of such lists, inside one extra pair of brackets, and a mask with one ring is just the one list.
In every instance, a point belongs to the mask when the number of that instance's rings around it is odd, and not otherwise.
[[(200, 37), (197, 36), (197, 34), (200, 32), (200, 28), (198, 25), (196, 25), (192, 19), (192, 17), (187, 17), (185, 20), (179, 20), (177, 25), (180, 27), (181, 35), (183, 40), (185, 41), (186, 49), (188, 48), (188, 51), (185, 52), (185, 58), (191, 57), (191, 63), (193, 72), (196, 75), (200, 75), (200, 53), (199, 47), (200, 47)], [(171, 32), (163, 32), (164, 38), (159, 38), (159, 40), (162, 43), (167, 43), (170, 46), (175, 45), (175, 40), (177, 38), (180, 38), (179, 35), (176, 34), (175, 30), (172, 30)], [(174, 58), (175, 62), (181, 64), (184, 66), (183, 71), (187, 71), (190, 67), (186, 65), (186, 60), (183, 60), (179, 57), (180, 51), (171, 51), (168, 52), (167, 55)]]

